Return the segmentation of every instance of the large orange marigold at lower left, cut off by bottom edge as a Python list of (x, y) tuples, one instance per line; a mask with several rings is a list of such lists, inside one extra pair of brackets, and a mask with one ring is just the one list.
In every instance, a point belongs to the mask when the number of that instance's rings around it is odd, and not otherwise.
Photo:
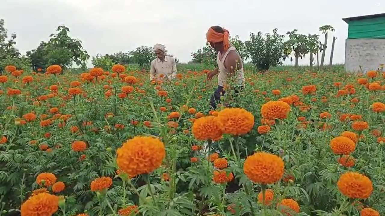
[(21, 216), (51, 216), (54, 214), (59, 205), (59, 197), (49, 194), (40, 193), (32, 196), (21, 206)]

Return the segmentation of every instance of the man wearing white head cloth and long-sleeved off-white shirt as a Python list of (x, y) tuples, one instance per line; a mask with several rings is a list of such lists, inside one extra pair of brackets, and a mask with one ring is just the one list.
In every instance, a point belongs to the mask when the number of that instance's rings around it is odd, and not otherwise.
[(156, 59), (151, 61), (150, 80), (174, 79), (177, 73), (175, 59), (167, 56), (164, 45), (154, 46)]

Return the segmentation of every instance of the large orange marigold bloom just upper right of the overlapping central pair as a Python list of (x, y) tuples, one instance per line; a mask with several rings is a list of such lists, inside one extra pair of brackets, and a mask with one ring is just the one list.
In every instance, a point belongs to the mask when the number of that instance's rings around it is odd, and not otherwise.
[(261, 115), (263, 118), (274, 120), (287, 118), (290, 112), (290, 105), (283, 101), (269, 101), (262, 105)]

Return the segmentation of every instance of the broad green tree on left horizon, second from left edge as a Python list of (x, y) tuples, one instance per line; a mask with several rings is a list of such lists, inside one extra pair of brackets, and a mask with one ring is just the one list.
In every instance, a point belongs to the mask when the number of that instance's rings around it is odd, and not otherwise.
[(59, 26), (56, 31), (56, 34), (50, 35), (48, 42), (41, 42), (35, 50), (27, 52), (33, 69), (47, 68), (50, 65), (69, 68), (75, 63), (85, 70), (86, 61), (90, 56), (83, 49), (82, 42), (69, 37), (69, 28), (64, 25)]

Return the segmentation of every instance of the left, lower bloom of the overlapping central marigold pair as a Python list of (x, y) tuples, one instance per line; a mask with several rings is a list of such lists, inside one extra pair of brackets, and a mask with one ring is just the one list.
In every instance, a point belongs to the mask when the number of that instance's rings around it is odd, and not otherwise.
[(222, 138), (222, 128), (222, 123), (218, 117), (201, 117), (192, 125), (192, 135), (194, 135), (197, 140), (216, 141)]

